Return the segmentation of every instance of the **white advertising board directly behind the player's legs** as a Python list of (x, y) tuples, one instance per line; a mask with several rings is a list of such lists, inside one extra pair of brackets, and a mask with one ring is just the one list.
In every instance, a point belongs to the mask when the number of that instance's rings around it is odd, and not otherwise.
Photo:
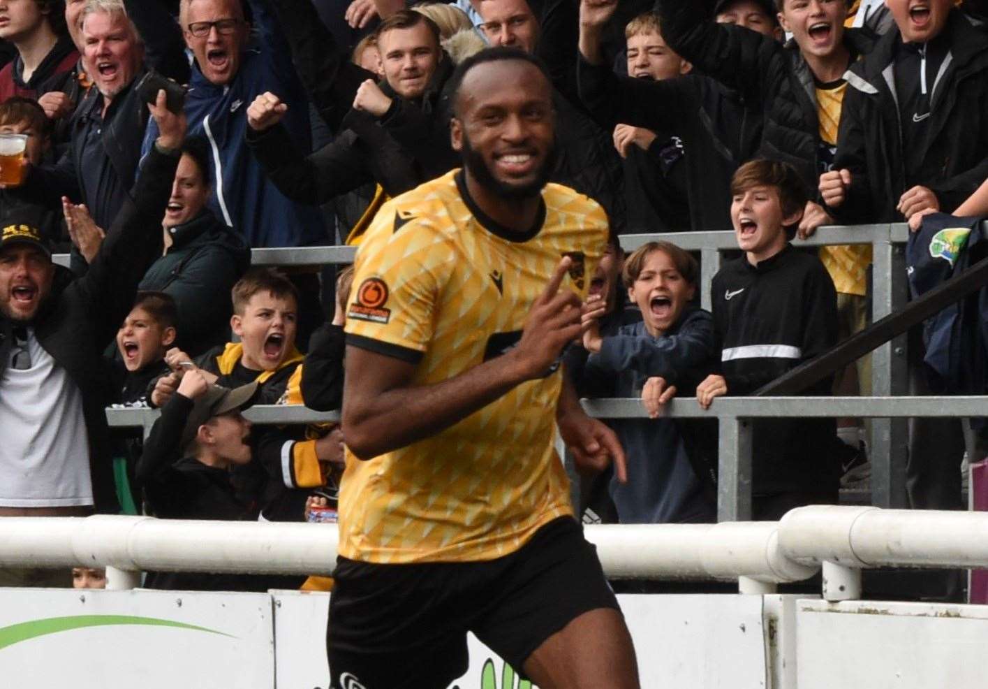
[[(278, 591), (279, 687), (328, 686), (328, 594)], [(620, 595), (642, 687), (737, 689), (766, 686), (761, 596)], [(451, 689), (529, 689), (496, 653), (469, 637), (470, 666)]]

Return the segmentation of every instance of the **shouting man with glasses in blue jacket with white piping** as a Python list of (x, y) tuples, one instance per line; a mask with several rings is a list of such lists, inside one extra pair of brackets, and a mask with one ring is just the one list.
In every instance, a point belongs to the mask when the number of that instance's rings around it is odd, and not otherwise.
[[(252, 27), (239, 0), (182, 0), (179, 23), (195, 57), (185, 106), (190, 133), (202, 135), (211, 148), (213, 212), (251, 246), (325, 243), (319, 209), (283, 196), (244, 144), (248, 106), (276, 91), (288, 103), (284, 122), (295, 145), (311, 148), (305, 94), (269, 2), (249, 0)], [(145, 150), (155, 134), (148, 128)]]

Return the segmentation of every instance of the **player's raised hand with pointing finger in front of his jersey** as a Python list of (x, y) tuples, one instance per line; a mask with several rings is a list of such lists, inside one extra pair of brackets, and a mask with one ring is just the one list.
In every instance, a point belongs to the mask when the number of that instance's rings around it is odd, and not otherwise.
[(509, 356), (521, 367), (525, 380), (540, 378), (555, 363), (563, 347), (580, 336), (580, 299), (569, 290), (559, 291), (573, 261), (559, 261), (545, 290), (529, 311), (518, 347)]

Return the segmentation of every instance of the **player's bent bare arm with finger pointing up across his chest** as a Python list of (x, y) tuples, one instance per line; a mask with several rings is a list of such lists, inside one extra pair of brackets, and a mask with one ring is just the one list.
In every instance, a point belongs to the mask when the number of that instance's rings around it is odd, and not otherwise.
[(564, 258), (559, 263), (515, 349), (449, 381), (414, 386), (416, 364), (348, 345), (343, 434), (350, 451), (369, 460), (405, 447), (540, 378), (580, 334), (580, 300), (568, 290), (559, 292), (570, 262)]

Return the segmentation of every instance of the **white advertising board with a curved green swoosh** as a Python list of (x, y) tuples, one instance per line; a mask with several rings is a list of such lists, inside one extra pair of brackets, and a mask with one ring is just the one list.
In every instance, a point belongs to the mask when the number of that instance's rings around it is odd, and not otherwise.
[(272, 689), (263, 593), (0, 588), (0, 685)]

